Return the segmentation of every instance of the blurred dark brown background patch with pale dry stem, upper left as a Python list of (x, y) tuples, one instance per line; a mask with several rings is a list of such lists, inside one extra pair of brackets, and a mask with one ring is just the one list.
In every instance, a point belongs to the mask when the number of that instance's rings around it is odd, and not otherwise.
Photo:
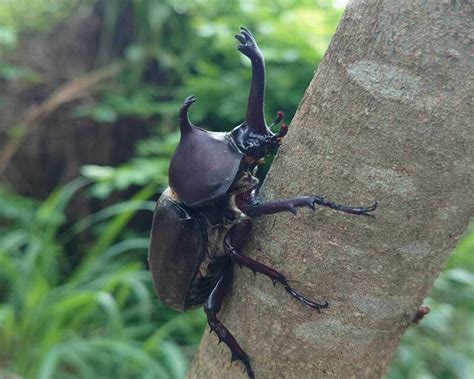
[[(130, 13), (118, 28), (116, 50), (128, 43), (121, 37), (132, 34), (132, 17)], [(25, 34), (17, 51), (6, 57), (9, 64), (27, 67), (41, 78), (39, 83), (0, 82), (5, 101), (0, 111), (0, 180), (15, 193), (46, 198), (76, 178), (85, 164), (127, 161), (136, 141), (149, 134), (146, 122), (133, 118), (111, 125), (73, 116), (79, 105), (95, 104), (99, 84), (119, 71), (112, 64), (94, 69), (104, 51), (99, 48), (103, 23), (100, 4), (83, 4), (50, 32)], [(70, 207), (71, 213), (82, 214), (76, 208)]]

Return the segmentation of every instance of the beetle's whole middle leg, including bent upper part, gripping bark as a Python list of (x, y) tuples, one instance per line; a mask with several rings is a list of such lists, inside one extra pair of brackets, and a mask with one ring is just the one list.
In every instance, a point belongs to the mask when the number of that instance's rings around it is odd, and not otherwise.
[(243, 222), (235, 225), (226, 235), (224, 249), (230, 255), (232, 261), (240, 267), (245, 266), (249, 268), (254, 273), (258, 272), (268, 276), (272, 280), (273, 285), (276, 285), (276, 283), (281, 283), (286, 292), (288, 292), (292, 297), (301, 301), (308, 307), (316, 309), (318, 313), (321, 313), (320, 309), (327, 308), (329, 305), (328, 302), (319, 304), (303, 297), (288, 284), (288, 280), (282, 273), (240, 253), (251, 227), (252, 224), (250, 223), (250, 220), (244, 220)]

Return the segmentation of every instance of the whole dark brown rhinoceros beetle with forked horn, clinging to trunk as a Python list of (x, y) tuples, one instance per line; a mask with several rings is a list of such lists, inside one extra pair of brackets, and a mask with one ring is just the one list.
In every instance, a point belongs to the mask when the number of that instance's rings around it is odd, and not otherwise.
[(232, 285), (233, 264), (245, 266), (280, 283), (295, 299), (320, 312), (328, 303), (316, 303), (296, 292), (283, 274), (242, 254), (255, 217), (316, 205), (368, 215), (369, 207), (348, 207), (319, 196), (261, 201), (259, 180), (253, 175), (263, 158), (282, 142), (288, 128), (279, 133), (278, 112), (271, 125), (264, 117), (265, 64), (252, 34), (244, 27), (235, 36), (237, 49), (252, 63), (252, 84), (245, 121), (228, 133), (208, 132), (193, 125), (187, 97), (179, 112), (181, 140), (169, 168), (169, 187), (156, 204), (151, 230), (149, 266), (161, 301), (185, 311), (204, 304), (211, 331), (230, 349), (232, 361), (240, 360), (254, 378), (250, 360), (239, 343), (219, 321), (217, 314)]

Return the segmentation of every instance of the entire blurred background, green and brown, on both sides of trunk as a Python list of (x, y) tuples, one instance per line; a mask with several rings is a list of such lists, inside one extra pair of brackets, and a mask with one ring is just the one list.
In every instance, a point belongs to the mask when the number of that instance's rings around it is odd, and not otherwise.
[[(184, 378), (201, 310), (156, 299), (146, 268), (177, 110), (242, 121), (258, 36), (266, 112), (291, 120), (345, 1), (0, 1), (0, 378)], [(472, 378), (474, 232), (388, 378)]]

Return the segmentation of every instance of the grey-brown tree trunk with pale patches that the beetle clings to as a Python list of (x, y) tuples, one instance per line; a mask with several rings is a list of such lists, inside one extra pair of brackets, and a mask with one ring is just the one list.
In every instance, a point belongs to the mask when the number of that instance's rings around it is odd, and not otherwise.
[[(472, 218), (472, 2), (352, 1), (263, 190), (377, 200), (376, 219), (317, 209), (256, 223), (245, 253), (322, 314), (237, 270), (219, 314), (257, 378), (381, 377)], [(429, 317), (429, 316), (427, 316)], [(245, 378), (205, 334), (190, 378)]]

